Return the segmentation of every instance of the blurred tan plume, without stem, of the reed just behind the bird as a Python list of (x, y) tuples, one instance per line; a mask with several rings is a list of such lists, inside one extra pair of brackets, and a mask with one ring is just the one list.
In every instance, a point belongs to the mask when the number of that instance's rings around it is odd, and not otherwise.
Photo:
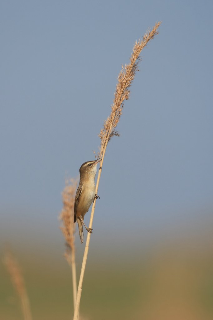
[(63, 226), (60, 227), (66, 241), (65, 258), (69, 260), (72, 251), (75, 250), (75, 224), (74, 220), (74, 202), (77, 188), (77, 179), (65, 180), (65, 188), (62, 192), (63, 208), (59, 219)]

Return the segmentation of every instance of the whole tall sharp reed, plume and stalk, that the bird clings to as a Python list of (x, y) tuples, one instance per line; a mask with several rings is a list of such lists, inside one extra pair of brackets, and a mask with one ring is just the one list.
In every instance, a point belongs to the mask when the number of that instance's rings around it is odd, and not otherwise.
[[(107, 120), (104, 122), (103, 129), (101, 130), (101, 132), (99, 134), (99, 137), (101, 139), (101, 147), (99, 149), (98, 156), (102, 157), (102, 160), (100, 163), (100, 169), (98, 171), (98, 177), (97, 177), (97, 182), (96, 182), (96, 188), (95, 188), (96, 194), (98, 192), (98, 186), (99, 186), (99, 181), (100, 181), (102, 166), (103, 166), (103, 159), (105, 156), (107, 144), (113, 136), (119, 136), (119, 133), (116, 131), (116, 127), (119, 122), (120, 116), (122, 115), (124, 101), (129, 99), (130, 85), (134, 79), (135, 72), (138, 70), (138, 64), (140, 62), (141, 50), (148, 44), (148, 42), (150, 40), (152, 40), (154, 38), (154, 36), (156, 36), (158, 34), (157, 30), (158, 30), (160, 24), (161, 24), (161, 22), (157, 22), (155, 24), (155, 26), (153, 27), (152, 31), (147, 32), (143, 36), (142, 40), (135, 42), (135, 45), (133, 47), (133, 52), (132, 52), (132, 55), (130, 58), (130, 63), (128, 65), (125, 65), (125, 67), (122, 66), (121, 72), (118, 76), (118, 84), (116, 85), (115, 98), (114, 98), (113, 104), (111, 106), (111, 114), (107, 118)], [(92, 228), (93, 217), (94, 217), (94, 212), (95, 212), (95, 203), (96, 203), (96, 199), (94, 200), (94, 203), (92, 206), (89, 228)], [(79, 279), (78, 292), (77, 292), (73, 320), (78, 319), (80, 298), (81, 298), (81, 292), (82, 292), (82, 283), (83, 283), (84, 272), (85, 272), (85, 267), (86, 267), (86, 262), (87, 262), (90, 236), (91, 236), (91, 234), (88, 232), (83, 261), (82, 261), (82, 266), (81, 266), (81, 273), (80, 273), (80, 279)]]

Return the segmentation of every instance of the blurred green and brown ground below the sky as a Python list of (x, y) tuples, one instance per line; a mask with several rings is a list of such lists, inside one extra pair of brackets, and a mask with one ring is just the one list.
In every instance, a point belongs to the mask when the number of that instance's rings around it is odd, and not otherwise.
[[(203, 218), (202, 225), (197, 221), (188, 230), (173, 228), (156, 237), (153, 244), (132, 242), (119, 247), (115, 243), (109, 248), (106, 240), (101, 247), (92, 235), (80, 306), (82, 319), (212, 319), (212, 216)], [(80, 246), (78, 234), (76, 242), (79, 276), (84, 245)], [(63, 257), (62, 236), (55, 249), (48, 248), (45, 241), (43, 246), (29, 243), (28, 250), (26, 244), (14, 244), (13, 249), (23, 271), (33, 319), (72, 319), (72, 277)], [(1, 275), (0, 319), (23, 319), (19, 298), (3, 265)]]

